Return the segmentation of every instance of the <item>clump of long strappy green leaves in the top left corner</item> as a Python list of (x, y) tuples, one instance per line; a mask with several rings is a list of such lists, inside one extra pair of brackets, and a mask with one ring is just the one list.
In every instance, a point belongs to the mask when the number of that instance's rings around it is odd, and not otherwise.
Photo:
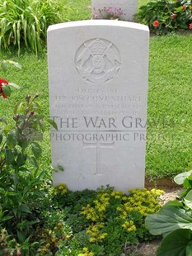
[(21, 43), (36, 54), (45, 45), (49, 25), (67, 21), (69, 8), (61, 0), (7, 0), (0, 2), (0, 46)]

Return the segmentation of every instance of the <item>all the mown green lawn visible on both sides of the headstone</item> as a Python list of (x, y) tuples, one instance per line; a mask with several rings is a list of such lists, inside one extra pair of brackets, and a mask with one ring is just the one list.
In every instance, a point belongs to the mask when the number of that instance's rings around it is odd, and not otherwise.
[[(75, 1), (74, 1), (75, 2)], [(146, 1), (139, 1), (139, 5)], [(78, 8), (78, 19), (89, 18), (87, 4), (90, 1), (69, 1), (68, 5)], [(79, 5), (79, 7), (78, 7)], [(72, 17), (72, 20), (75, 17)], [(148, 119), (155, 120), (148, 125), (146, 151), (146, 174), (148, 178), (175, 176), (176, 173), (192, 167), (192, 92), (191, 59), (192, 34), (153, 36), (150, 38), (150, 65), (148, 83)], [(44, 113), (49, 115), (49, 89), (46, 51), (36, 57), (23, 50), (20, 57), (16, 50), (2, 52), (1, 59), (18, 61), (23, 69), (14, 67), (1, 75), (8, 81), (21, 85), (21, 90), (14, 89), (12, 97), (1, 99), (0, 116), (12, 119), (12, 107), (26, 94), (40, 92), (40, 101)], [(163, 124), (163, 120), (166, 124)], [(44, 154), (42, 167), (50, 165), (49, 131), (42, 143)]]

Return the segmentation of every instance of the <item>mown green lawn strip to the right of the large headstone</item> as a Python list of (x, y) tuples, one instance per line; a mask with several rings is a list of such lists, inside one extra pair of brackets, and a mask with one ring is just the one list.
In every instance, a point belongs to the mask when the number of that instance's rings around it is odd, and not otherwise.
[(164, 127), (148, 127), (146, 167), (150, 177), (173, 176), (191, 168), (191, 47), (191, 34), (150, 40), (148, 117), (168, 122)]

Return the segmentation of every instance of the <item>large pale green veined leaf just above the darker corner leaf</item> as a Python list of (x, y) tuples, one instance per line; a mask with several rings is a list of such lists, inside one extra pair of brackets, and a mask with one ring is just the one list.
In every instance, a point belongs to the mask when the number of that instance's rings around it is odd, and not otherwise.
[(147, 216), (146, 228), (152, 235), (167, 235), (178, 229), (192, 230), (192, 217), (178, 206), (162, 206), (156, 214)]

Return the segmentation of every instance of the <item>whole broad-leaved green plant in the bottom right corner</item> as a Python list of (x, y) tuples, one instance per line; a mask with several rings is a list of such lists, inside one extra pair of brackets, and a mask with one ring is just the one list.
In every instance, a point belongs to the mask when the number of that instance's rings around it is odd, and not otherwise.
[[(146, 228), (152, 235), (163, 235), (157, 256), (190, 255), (192, 249), (192, 171), (180, 173), (175, 182), (185, 188), (178, 201), (170, 201), (156, 214), (146, 218)], [(177, 241), (177, 242), (176, 242)]]

